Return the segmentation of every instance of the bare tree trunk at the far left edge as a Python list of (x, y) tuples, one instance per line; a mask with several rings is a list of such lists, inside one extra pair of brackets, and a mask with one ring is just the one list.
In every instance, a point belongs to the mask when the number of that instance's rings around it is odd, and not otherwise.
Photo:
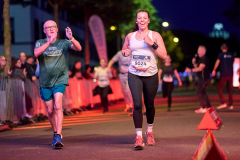
[(4, 0), (3, 6), (3, 20), (4, 20), (4, 54), (7, 59), (7, 72), (12, 63), (12, 50), (11, 50), (11, 25), (10, 25), (10, 12), (9, 0)]

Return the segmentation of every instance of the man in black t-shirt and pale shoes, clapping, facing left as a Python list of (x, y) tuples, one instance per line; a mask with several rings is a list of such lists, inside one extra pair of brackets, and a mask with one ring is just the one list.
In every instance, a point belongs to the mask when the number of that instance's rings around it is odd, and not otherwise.
[(187, 73), (198, 73), (198, 84), (197, 84), (197, 94), (200, 102), (200, 109), (195, 110), (195, 113), (206, 113), (207, 109), (211, 107), (208, 95), (206, 93), (206, 88), (210, 84), (210, 71), (209, 71), (209, 60), (205, 56), (207, 49), (205, 46), (200, 45), (198, 47), (198, 57), (199, 60), (196, 62), (196, 58), (192, 59), (194, 68), (190, 69), (186, 67)]

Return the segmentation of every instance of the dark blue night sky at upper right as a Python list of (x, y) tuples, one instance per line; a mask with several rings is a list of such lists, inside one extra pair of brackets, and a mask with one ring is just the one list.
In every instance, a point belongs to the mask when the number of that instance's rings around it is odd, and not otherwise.
[[(236, 27), (223, 11), (234, 0), (152, 0), (162, 21), (169, 22), (169, 29), (184, 29), (208, 35), (215, 23), (223, 23), (225, 31), (240, 38), (240, 28)], [(231, 36), (231, 35), (230, 35)]]

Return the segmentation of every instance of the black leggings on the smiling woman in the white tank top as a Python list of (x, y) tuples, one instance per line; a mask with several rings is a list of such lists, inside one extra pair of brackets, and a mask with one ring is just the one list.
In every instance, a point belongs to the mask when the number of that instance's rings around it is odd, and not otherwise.
[(146, 106), (147, 123), (153, 124), (155, 116), (154, 98), (158, 89), (158, 73), (148, 77), (128, 73), (128, 83), (134, 103), (133, 120), (135, 128), (142, 128), (142, 92)]

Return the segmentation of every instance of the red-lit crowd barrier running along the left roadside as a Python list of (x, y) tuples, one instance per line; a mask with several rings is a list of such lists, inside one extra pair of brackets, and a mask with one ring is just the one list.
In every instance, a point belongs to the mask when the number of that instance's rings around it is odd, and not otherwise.
[[(63, 96), (63, 109), (77, 109), (81, 106), (100, 103), (100, 96), (94, 96), (92, 90), (97, 86), (93, 80), (69, 79)], [(111, 80), (110, 87), (113, 94), (108, 99), (123, 98), (120, 81)], [(26, 115), (47, 114), (43, 100), (40, 98), (39, 82), (26, 79), (0, 79), (0, 120), (19, 120)]]

